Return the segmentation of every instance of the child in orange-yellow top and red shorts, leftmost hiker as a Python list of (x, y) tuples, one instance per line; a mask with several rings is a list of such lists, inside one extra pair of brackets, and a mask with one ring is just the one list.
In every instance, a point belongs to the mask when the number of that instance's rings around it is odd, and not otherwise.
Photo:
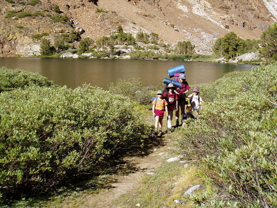
[(159, 90), (157, 96), (158, 98), (152, 102), (152, 112), (155, 117), (155, 135), (158, 135), (158, 125), (160, 128), (159, 132), (162, 132), (164, 112), (166, 111), (166, 114), (168, 115), (168, 102), (163, 99), (163, 92)]

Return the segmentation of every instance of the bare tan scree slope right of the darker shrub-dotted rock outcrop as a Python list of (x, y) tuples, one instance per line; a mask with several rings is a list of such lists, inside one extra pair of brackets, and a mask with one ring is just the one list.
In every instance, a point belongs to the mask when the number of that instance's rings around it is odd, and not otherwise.
[[(276, 0), (41, 1), (41, 6), (58, 5), (75, 26), (84, 29), (82, 37), (98, 40), (121, 25), (134, 35), (157, 33), (170, 44), (190, 41), (203, 54), (211, 54), (215, 40), (231, 31), (244, 39), (259, 39), (277, 19)], [(97, 8), (106, 12), (96, 12)]]

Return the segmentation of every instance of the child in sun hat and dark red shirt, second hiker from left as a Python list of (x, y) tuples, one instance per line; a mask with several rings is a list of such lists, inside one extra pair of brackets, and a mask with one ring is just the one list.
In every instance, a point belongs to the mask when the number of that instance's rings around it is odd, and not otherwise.
[(173, 117), (173, 111), (177, 110), (178, 107), (178, 96), (174, 92), (175, 87), (172, 83), (168, 84), (168, 92), (163, 93), (163, 98), (166, 99), (166, 102), (168, 103), (168, 133), (171, 133), (172, 128), (172, 117)]

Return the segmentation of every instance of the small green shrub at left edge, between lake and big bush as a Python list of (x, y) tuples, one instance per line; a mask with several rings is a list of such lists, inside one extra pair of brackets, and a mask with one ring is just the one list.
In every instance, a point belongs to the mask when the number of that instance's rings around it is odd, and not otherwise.
[(0, 93), (31, 85), (51, 86), (53, 83), (37, 73), (20, 69), (0, 68)]

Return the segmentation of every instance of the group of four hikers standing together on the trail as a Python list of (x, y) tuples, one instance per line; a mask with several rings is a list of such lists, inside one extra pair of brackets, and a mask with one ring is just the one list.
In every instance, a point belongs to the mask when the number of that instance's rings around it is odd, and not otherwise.
[(183, 125), (184, 121), (188, 118), (199, 119), (199, 110), (202, 104), (202, 98), (199, 96), (199, 88), (194, 87), (193, 94), (187, 96), (190, 86), (186, 81), (186, 75), (184, 73), (178, 73), (177, 80), (181, 83), (179, 87), (169, 83), (163, 91), (159, 90), (157, 92), (157, 98), (152, 102), (152, 113), (155, 118), (155, 135), (158, 135), (158, 133), (161, 134), (162, 132), (165, 112), (168, 133), (172, 132), (173, 112), (175, 112), (176, 127), (179, 126), (180, 114)]

